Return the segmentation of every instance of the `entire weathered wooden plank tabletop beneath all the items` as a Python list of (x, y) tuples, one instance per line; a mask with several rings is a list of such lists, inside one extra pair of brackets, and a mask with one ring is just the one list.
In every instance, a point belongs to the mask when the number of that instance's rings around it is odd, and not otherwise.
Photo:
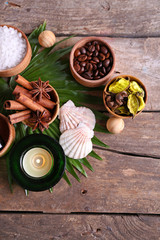
[(87, 171), (72, 187), (26, 197), (0, 162), (0, 239), (132, 240), (160, 239), (160, 2), (159, 0), (13, 0), (0, 3), (0, 23), (30, 33), (47, 20), (57, 37), (76, 34), (107, 38), (116, 54), (115, 74), (143, 81), (148, 102), (143, 113), (125, 121), (119, 135), (96, 133), (110, 149), (96, 149)]

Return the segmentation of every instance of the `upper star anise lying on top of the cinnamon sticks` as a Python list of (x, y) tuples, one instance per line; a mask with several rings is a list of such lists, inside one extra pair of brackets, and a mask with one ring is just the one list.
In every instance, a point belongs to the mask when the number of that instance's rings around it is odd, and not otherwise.
[(38, 81), (31, 82), (31, 86), (33, 87), (32, 90), (30, 90), (30, 93), (32, 94), (33, 99), (41, 100), (42, 96), (45, 96), (48, 99), (51, 99), (48, 92), (52, 91), (52, 88), (49, 86), (49, 81), (43, 82), (40, 78)]

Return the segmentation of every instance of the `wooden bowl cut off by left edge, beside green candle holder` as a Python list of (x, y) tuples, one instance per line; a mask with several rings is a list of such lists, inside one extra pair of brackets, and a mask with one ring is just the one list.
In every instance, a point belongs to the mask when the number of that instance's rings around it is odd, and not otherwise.
[(15, 139), (15, 129), (7, 117), (0, 113), (0, 136), (5, 142), (5, 147), (0, 151), (0, 157), (5, 155)]

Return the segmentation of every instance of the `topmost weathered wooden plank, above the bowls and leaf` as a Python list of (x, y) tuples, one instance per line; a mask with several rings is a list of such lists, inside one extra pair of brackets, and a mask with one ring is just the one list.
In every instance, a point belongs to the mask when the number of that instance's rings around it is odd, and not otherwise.
[[(1, 1), (1, 21), (31, 32), (44, 19), (56, 34), (159, 36), (159, 0)], [(26, 21), (27, 19), (27, 21)]]

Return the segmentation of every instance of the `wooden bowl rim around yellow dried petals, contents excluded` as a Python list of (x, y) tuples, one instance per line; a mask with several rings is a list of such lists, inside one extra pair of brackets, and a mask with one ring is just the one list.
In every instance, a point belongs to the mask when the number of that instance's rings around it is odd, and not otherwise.
[[(106, 101), (105, 101), (105, 96), (106, 96), (105, 91), (107, 91), (109, 85), (110, 85), (112, 82), (114, 82), (117, 78), (126, 78), (126, 77), (129, 77), (131, 81), (136, 81), (136, 82), (143, 88), (143, 90), (144, 90), (144, 92), (145, 92), (144, 102), (145, 102), (145, 104), (146, 104), (146, 102), (147, 102), (147, 89), (146, 89), (145, 85), (144, 85), (138, 78), (136, 78), (136, 77), (134, 77), (134, 76), (130, 76), (130, 75), (119, 75), (119, 76), (114, 77), (113, 79), (111, 79), (110, 81), (107, 82), (107, 84), (106, 84), (106, 86), (105, 86), (105, 88), (104, 88), (104, 91), (103, 91), (103, 102), (104, 102), (104, 106), (105, 106), (105, 108), (107, 109), (107, 111), (108, 111), (109, 113), (111, 113), (113, 116), (119, 117), (119, 118), (131, 118), (132, 115), (126, 116), (126, 115), (120, 115), (120, 114), (114, 113), (114, 112), (107, 106), (107, 104), (106, 104)], [(136, 116), (137, 116), (138, 114), (140, 114), (142, 111), (143, 111), (143, 109), (142, 109), (141, 111), (139, 111), (139, 112), (136, 114)]]

